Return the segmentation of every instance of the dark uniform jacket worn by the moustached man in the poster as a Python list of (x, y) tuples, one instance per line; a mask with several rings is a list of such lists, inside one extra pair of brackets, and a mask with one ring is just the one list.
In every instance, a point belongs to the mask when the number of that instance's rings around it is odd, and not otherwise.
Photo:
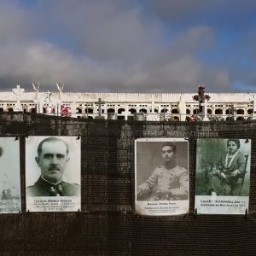
[(34, 185), (26, 188), (28, 196), (78, 196), (80, 195), (80, 186), (77, 183), (66, 183), (61, 181), (56, 185), (48, 183), (42, 177)]

